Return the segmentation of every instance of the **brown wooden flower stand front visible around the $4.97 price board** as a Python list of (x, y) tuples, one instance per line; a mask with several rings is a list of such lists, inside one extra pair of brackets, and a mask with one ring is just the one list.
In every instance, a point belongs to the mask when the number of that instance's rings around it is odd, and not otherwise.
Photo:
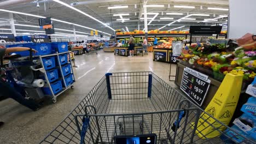
[[(181, 82), (182, 82), (182, 77), (183, 77), (183, 71), (185, 67), (189, 67), (191, 68), (191, 65), (189, 64), (185, 64), (185, 63), (177, 63), (177, 69), (176, 69), (176, 78), (175, 78), (175, 83), (178, 87), (181, 87)], [(191, 68), (193, 69), (193, 68)], [(197, 70), (198, 71), (198, 70)], [(199, 71), (200, 72), (200, 71)], [(209, 76), (209, 78), (211, 80), (210, 82), (210, 87), (208, 89), (208, 92), (206, 94), (205, 100), (203, 101), (202, 104), (202, 109), (205, 109), (206, 106), (210, 103), (210, 101), (212, 100), (213, 96), (215, 95), (215, 93), (217, 92), (219, 86), (220, 86), (220, 81), (217, 81), (215, 79), (213, 79), (212, 77)], [(186, 95), (187, 96), (187, 95)], [(189, 98), (190, 99), (190, 98)]]

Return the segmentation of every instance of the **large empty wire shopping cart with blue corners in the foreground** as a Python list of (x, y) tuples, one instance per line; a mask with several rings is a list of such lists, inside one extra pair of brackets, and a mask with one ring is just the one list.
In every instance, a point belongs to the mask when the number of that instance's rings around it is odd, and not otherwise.
[[(149, 143), (225, 143), (237, 136), (253, 143), (217, 119), (207, 122), (210, 118), (215, 119), (154, 73), (107, 73), (41, 143), (118, 143), (120, 137), (145, 135), (155, 139)], [(225, 138), (209, 139), (212, 131), (203, 135), (196, 130), (202, 125), (199, 119)], [(234, 136), (224, 133), (225, 128)]]

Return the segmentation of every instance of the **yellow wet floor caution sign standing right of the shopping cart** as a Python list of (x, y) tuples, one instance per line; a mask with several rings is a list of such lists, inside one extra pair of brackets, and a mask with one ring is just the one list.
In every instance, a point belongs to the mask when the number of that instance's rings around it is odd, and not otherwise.
[[(242, 80), (243, 75), (226, 74), (205, 111), (220, 122), (228, 125), (236, 109), (241, 92)], [(191, 123), (191, 128), (194, 128), (194, 124)], [(196, 134), (202, 139), (214, 138), (220, 135), (218, 130), (223, 131), (225, 128), (222, 124), (203, 112), (197, 123)]]

